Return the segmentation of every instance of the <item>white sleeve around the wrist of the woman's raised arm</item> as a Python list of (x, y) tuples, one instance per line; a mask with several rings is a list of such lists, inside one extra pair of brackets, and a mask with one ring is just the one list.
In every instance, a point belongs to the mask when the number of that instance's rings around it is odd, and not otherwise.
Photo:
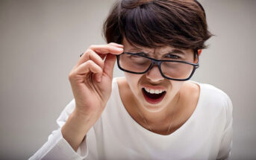
[(81, 142), (78, 150), (72, 149), (69, 143), (63, 138), (61, 127), (66, 123), (67, 118), (75, 109), (75, 99), (73, 99), (61, 112), (57, 118), (58, 129), (55, 129), (49, 135), (48, 141), (43, 144), (40, 150), (37, 150), (29, 160), (33, 159), (85, 159), (88, 154), (87, 135)]

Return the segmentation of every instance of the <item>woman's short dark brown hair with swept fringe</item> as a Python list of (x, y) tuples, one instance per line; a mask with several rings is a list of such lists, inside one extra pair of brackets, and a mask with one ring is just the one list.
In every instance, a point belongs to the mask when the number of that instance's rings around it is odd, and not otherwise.
[(196, 0), (118, 0), (103, 25), (106, 42), (125, 38), (147, 48), (170, 45), (194, 51), (207, 48), (205, 10)]

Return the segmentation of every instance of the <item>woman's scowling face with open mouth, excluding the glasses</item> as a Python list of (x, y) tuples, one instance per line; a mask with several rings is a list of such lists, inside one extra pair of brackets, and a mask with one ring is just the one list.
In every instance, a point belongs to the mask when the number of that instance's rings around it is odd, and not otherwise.
[[(170, 46), (163, 48), (140, 48), (138, 46), (134, 47), (126, 39), (123, 40), (123, 45), (125, 52), (143, 52), (157, 60), (174, 60), (174, 58), (177, 60), (178, 57), (178, 60), (197, 63), (197, 58), (194, 60), (192, 49), (181, 50)], [(172, 105), (172, 103), (175, 104), (178, 99), (178, 92), (184, 83), (184, 81), (168, 80), (162, 77), (157, 65), (154, 65), (145, 74), (125, 72), (125, 77), (137, 105), (142, 106), (148, 112), (160, 112), (166, 106)], [(157, 95), (157, 99), (150, 98), (152, 94), (159, 94), (160, 92), (162, 94), (160, 94), (161, 96)]]

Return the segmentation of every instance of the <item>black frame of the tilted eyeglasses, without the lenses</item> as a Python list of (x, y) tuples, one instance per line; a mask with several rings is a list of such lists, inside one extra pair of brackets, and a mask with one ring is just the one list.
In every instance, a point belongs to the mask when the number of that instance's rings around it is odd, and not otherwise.
[[(119, 57), (120, 55), (122, 54), (131, 54), (131, 55), (137, 55), (139, 57), (145, 57), (149, 60), (151, 60), (151, 65), (149, 65), (149, 68), (146, 69), (146, 71), (143, 71), (143, 72), (134, 72), (134, 71), (128, 71), (124, 68), (122, 68), (119, 64)], [(166, 79), (169, 79), (169, 80), (177, 80), (177, 81), (186, 81), (186, 80), (190, 80), (190, 78), (193, 76), (194, 72), (196, 71), (196, 68), (199, 68), (199, 60), (197, 63), (189, 63), (189, 62), (186, 62), (186, 61), (181, 61), (181, 60), (156, 60), (152, 57), (147, 57), (147, 56), (144, 56), (144, 55), (141, 55), (140, 53), (129, 53), (129, 52), (122, 52), (122, 54), (119, 54), (119, 55), (116, 55), (116, 59), (117, 59), (117, 65), (119, 67), (119, 69), (121, 69), (122, 71), (126, 71), (128, 73), (131, 73), (131, 74), (145, 74), (147, 71), (149, 71), (155, 64), (158, 66), (158, 69), (160, 71), (160, 74), (166, 78)], [(199, 58), (198, 56), (198, 53), (196, 52), (196, 56)], [(193, 71), (191, 72), (190, 74), (190, 77), (186, 78), (186, 79), (175, 79), (175, 78), (170, 78), (170, 77), (166, 77), (164, 74), (163, 74), (163, 71), (161, 70), (161, 63), (163, 62), (175, 62), (175, 63), (185, 63), (185, 64), (188, 64), (188, 65), (193, 65)]]

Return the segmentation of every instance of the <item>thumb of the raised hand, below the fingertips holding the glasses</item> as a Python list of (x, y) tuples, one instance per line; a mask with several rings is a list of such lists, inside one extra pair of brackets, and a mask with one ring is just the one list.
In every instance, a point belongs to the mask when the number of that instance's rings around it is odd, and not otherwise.
[(104, 62), (103, 72), (107, 74), (108, 77), (112, 79), (113, 77), (113, 65), (116, 63), (116, 55), (107, 54), (107, 57)]

